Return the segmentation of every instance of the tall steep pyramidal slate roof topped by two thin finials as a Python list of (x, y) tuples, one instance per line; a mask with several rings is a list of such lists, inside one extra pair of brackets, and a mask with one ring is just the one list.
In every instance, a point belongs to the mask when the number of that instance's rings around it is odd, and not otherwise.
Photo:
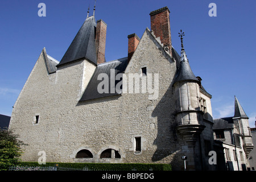
[(86, 18), (84, 24), (77, 32), (67, 52), (60, 60), (60, 65), (75, 61), (81, 58), (86, 58), (97, 65), (96, 46), (95, 46), (95, 30), (97, 24), (94, 16)]

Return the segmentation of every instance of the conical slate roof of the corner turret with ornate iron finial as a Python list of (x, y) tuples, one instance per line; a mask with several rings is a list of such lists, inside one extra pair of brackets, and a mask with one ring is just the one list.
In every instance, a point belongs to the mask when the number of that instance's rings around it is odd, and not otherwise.
[(177, 76), (175, 77), (174, 83), (183, 80), (199, 82), (199, 80), (192, 72), (192, 69), (188, 63), (187, 55), (184, 50), (181, 51), (179, 71), (177, 73)]

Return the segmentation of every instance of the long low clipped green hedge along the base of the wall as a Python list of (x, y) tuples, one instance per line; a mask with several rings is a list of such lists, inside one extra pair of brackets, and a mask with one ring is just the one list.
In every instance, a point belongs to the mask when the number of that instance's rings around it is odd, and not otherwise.
[[(109, 171), (131, 171), (136, 169), (137, 171), (171, 171), (170, 164), (141, 164), (141, 163), (46, 163), (42, 166), (55, 166), (70, 167), (70, 168), (88, 168), (92, 170), (109, 170)], [(41, 166), (37, 162), (22, 162), (20, 166)]]

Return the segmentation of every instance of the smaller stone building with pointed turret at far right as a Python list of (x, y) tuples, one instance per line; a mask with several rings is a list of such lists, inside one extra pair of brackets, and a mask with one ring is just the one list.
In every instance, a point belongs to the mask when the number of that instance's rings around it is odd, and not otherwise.
[[(234, 116), (213, 120), (215, 147), (221, 146), (221, 151), (218, 154), (224, 152), (225, 159), (222, 159), (225, 160), (224, 169), (226, 170), (246, 171), (250, 169), (248, 159), (254, 146), (248, 119), (235, 96)], [(216, 149), (216, 151), (218, 150)], [(223, 162), (219, 161), (219, 163)], [(224, 167), (224, 165), (220, 167)]]

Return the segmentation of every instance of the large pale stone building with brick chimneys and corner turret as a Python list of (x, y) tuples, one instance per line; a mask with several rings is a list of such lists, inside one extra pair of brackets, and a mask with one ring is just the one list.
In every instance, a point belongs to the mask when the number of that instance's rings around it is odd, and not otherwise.
[[(214, 170), (210, 98), (182, 44), (171, 42), (170, 11), (150, 13), (151, 30), (128, 35), (127, 57), (105, 60), (107, 24), (85, 19), (60, 61), (43, 48), (14, 105), (10, 128), (23, 161), (168, 163)], [(182, 32), (181, 32), (182, 40)], [(193, 61), (193, 60), (191, 60)], [(224, 164), (225, 165), (225, 164)]]

